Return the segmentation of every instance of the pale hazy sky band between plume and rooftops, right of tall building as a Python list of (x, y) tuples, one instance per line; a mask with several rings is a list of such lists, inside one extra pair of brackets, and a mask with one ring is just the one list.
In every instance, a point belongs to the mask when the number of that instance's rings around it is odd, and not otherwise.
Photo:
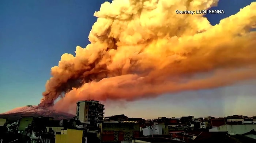
[[(224, 87), (211, 91), (184, 92), (172, 96), (171, 98), (169, 95), (162, 95), (153, 100), (145, 99), (135, 102), (122, 101), (120, 103), (101, 101), (101, 103), (105, 104), (104, 116), (124, 114), (129, 118), (144, 119), (155, 119), (164, 116), (168, 118), (180, 118), (189, 115), (195, 116), (195, 118), (207, 116), (218, 118), (231, 115), (255, 116), (256, 113), (252, 110), (255, 107), (253, 102), (256, 100), (256, 97), (253, 96), (256, 92), (256, 89), (253, 88), (255, 84), (255, 81), (247, 81), (231, 87)], [(236, 94), (236, 96), (233, 96), (234, 94)], [(193, 96), (194, 99), (191, 99), (189, 96)], [(248, 102), (248, 98), (251, 102)], [(200, 104), (198, 104), (198, 102)], [(140, 106), (140, 104), (151, 106)], [(189, 104), (189, 107), (184, 107), (186, 104)], [(159, 105), (162, 106), (159, 107)], [(112, 110), (116, 108), (119, 110)], [(151, 113), (154, 115), (151, 115)], [(72, 114), (75, 115), (75, 112)]]

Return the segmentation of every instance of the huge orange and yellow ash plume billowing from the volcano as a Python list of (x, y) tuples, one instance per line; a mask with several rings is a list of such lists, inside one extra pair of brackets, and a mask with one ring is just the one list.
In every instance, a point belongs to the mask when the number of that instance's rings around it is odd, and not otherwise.
[[(135, 100), (227, 86), (256, 78), (256, 2), (212, 26), (218, 0), (113, 0), (101, 5), (86, 48), (65, 53), (39, 106), (68, 110), (77, 100)], [(208, 74), (205, 74), (208, 73)], [(199, 75), (200, 74), (200, 75)], [(204, 76), (202, 76), (204, 74)]]

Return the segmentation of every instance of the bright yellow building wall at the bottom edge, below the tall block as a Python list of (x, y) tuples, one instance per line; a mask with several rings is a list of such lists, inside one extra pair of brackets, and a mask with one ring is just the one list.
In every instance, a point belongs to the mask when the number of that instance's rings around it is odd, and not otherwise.
[(55, 136), (55, 143), (82, 143), (82, 130), (67, 129), (67, 134), (63, 133)]

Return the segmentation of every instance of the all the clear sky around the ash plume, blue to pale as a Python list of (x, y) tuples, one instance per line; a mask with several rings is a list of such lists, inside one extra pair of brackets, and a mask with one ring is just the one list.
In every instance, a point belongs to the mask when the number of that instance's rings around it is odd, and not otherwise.
[[(0, 1), (0, 113), (39, 103), (45, 82), (50, 78), (50, 68), (58, 65), (60, 56), (74, 54), (77, 45), (89, 44), (87, 37), (96, 21), (93, 13), (104, 1)], [(220, 0), (217, 8), (225, 14), (207, 15), (207, 18), (211, 24), (217, 24), (251, 2), (253, 0)], [(249, 81), (233, 87), (162, 95), (127, 103), (121, 108), (109, 103), (105, 114), (144, 118), (254, 115), (255, 86), (255, 81)], [(148, 114), (148, 110), (152, 112)]]

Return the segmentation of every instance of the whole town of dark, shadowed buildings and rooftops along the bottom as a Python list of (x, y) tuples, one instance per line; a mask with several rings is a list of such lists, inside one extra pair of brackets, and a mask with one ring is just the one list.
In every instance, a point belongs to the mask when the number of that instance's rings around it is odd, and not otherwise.
[[(10, 113), (12, 120), (0, 118), (1, 143), (256, 143), (256, 116), (104, 117), (105, 108), (99, 101), (76, 104), (72, 119), (19, 116), (20, 112)], [(15, 115), (19, 119), (13, 121)]]

